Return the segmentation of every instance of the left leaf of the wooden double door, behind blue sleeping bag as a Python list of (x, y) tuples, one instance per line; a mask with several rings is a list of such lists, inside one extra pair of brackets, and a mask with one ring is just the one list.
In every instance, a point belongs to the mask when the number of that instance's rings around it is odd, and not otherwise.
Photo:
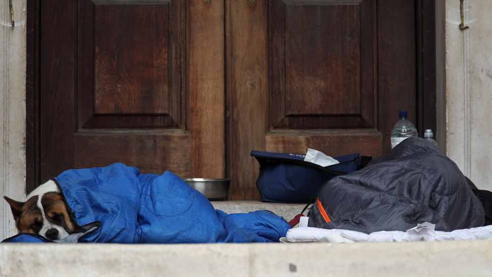
[(224, 178), (223, 10), (184, 0), (42, 2), (41, 182), (113, 162)]

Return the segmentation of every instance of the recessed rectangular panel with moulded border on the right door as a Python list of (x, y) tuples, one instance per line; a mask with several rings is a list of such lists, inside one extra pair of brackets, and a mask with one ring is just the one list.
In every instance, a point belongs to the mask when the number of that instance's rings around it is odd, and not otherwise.
[(328, 4), (270, 1), (272, 128), (377, 128), (376, 2)]

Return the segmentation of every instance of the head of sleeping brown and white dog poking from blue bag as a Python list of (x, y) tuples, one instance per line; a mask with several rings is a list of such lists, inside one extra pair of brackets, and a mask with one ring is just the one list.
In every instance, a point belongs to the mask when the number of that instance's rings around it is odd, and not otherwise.
[(25, 202), (4, 196), (10, 204), (18, 233), (37, 234), (49, 240), (60, 240), (80, 233), (70, 216), (60, 189), (53, 180), (36, 188)]

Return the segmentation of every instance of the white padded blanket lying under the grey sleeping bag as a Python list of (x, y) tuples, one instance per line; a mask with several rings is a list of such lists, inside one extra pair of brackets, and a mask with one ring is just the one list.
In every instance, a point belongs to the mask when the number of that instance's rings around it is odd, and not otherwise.
[[(306, 223), (307, 220), (301, 220)], [(305, 224), (306, 225), (306, 224)], [(353, 242), (409, 242), (409, 241), (446, 241), (446, 240), (488, 240), (492, 239), (492, 226), (477, 227), (471, 229), (460, 229), (452, 232), (435, 231), (434, 224), (423, 223), (415, 228), (401, 231), (380, 231), (365, 234), (343, 229), (320, 229), (306, 227), (292, 228), (287, 231), (285, 238), (280, 241), (290, 242), (331, 242), (331, 243), (353, 243)]]

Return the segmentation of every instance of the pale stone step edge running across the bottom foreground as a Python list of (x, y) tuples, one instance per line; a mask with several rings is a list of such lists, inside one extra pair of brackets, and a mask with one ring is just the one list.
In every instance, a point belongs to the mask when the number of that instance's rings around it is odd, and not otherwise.
[(0, 244), (1, 276), (490, 276), (492, 241)]

